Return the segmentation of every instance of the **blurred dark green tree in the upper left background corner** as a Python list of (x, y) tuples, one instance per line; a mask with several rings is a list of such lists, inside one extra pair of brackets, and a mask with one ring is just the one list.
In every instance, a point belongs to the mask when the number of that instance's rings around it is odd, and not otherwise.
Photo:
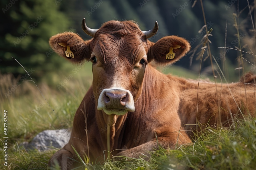
[[(13, 3), (13, 4), (12, 4)], [(61, 1), (24, 0), (1, 1), (0, 71), (25, 74), (17, 59), (33, 77), (39, 78), (47, 70), (57, 70), (62, 60), (48, 45), (49, 38), (59, 32), (68, 31), (70, 21), (59, 10)]]

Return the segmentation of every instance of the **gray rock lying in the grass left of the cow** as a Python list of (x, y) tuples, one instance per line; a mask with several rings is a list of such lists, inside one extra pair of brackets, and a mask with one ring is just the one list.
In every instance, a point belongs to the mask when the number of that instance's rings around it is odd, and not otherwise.
[[(66, 131), (66, 132), (65, 132)], [(69, 141), (71, 129), (44, 130), (37, 134), (30, 143), (23, 143), (26, 150), (37, 149), (45, 151), (54, 148), (63, 148)]]

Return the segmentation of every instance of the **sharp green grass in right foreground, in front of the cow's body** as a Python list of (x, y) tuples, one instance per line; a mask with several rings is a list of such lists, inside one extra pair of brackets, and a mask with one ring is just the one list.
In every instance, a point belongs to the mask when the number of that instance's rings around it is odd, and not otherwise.
[(231, 129), (208, 128), (191, 146), (159, 149), (143, 158), (105, 161), (90, 169), (255, 169), (256, 119), (237, 120)]

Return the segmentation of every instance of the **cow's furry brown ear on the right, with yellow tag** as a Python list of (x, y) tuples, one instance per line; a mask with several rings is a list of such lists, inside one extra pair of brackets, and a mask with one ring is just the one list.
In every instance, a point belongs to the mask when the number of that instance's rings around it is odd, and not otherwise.
[(160, 66), (175, 63), (182, 58), (189, 50), (190, 44), (184, 38), (172, 35), (158, 40), (148, 51), (148, 62), (152, 60)]

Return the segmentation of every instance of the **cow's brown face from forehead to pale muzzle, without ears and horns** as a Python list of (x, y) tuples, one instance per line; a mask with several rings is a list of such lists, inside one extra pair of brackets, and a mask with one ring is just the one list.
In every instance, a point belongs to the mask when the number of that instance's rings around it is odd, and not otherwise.
[(100, 34), (93, 41), (97, 42), (90, 60), (97, 109), (117, 115), (134, 112), (147, 65), (146, 44), (137, 35)]

